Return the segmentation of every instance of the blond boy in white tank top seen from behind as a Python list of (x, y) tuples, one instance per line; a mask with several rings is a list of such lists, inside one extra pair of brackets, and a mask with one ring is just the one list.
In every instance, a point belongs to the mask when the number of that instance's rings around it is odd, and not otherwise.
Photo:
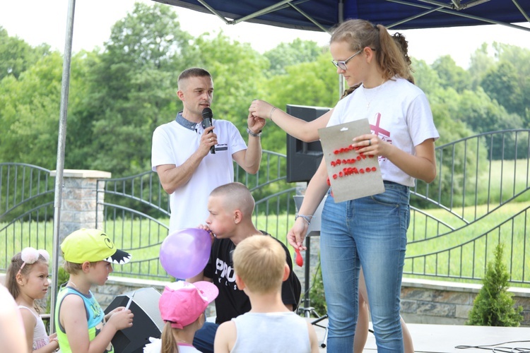
[(235, 248), (233, 262), (237, 287), (247, 294), (252, 309), (219, 326), (215, 352), (318, 352), (311, 323), (281, 299), (289, 266), (278, 241), (248, 237)]

